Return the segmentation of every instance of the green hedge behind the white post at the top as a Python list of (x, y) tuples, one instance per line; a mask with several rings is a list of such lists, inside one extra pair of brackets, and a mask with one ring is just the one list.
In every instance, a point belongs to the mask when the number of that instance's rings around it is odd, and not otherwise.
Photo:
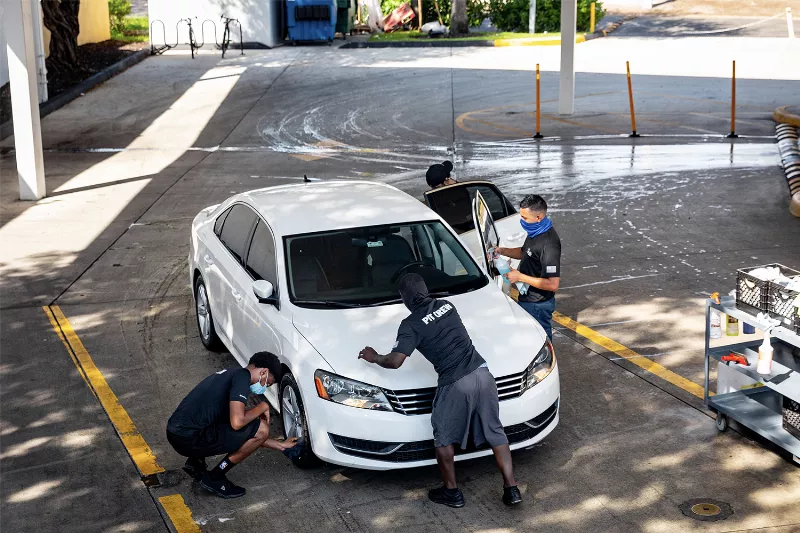
[[(591, 0), (578, 0), (578, 31), (589, 31)], [(605, 16), (603, 3), (595, 1), (595, 21)], [(489, 0), (492, 23), (503, 31), (528, 31), (530, 0)], [(536, 31), (561, 31), (561, 0), (536, 0)]]

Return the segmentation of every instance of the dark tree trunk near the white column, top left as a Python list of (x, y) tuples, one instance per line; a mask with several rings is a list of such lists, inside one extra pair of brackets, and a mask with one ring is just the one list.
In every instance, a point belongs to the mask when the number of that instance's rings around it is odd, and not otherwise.
[(80, 0), (42, 0), (44, 25), (50, 30), (47, 68), (68, 72), (78, 66), (78, 11)]

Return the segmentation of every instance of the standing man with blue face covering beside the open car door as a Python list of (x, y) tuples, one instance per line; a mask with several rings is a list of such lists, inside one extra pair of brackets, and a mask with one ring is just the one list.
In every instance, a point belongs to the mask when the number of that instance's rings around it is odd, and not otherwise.
[(519, 305), (536, 319), (547, 336), (553, 338), (553, 311), (556, 291), (561, 281), (561, 239), (547, 218), (547, 202), (537, 194), (529, 194), (519, 204), (520, 224), (528, 237), (522, 248), (498, 247), (496, 252), (520, 259), (519, 270), (506, 274), (511, 283), (521, 281), (528, 286), (520, 291)]

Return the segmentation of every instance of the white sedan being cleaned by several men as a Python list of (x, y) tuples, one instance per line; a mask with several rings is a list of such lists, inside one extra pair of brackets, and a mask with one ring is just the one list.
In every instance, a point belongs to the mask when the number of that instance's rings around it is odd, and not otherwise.
[[(477, 194), (482, 218), (473, 227), (493, 226), (482, 202)], [(470, 248), (485, 249), (485, 233), (474, 232), (480, 245)], [(239, 194), (192, 223), (200, 338), (243, 366), (258, 351), (278, 355), (284, 374), (266, 396), (286, 436), (303, 437), (298, 466), (434, 464), (433, 366), (416, 352), (399, 371), (358, 359), (367, 345), (390, 351), (408, 315), (396, 282), (416, 272), (458, 308), (497, 381), (511, 448), (527, 447), (558, 423), (555, 354), (539, 324), (491, 282), (485, 254), (477, 256), (431, 208), (388, 185), (329, 181)]]

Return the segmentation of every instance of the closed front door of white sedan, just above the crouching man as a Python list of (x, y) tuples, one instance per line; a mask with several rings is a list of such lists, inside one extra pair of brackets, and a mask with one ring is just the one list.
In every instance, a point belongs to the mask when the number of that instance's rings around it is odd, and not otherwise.
[[(259, 218), (245, 259), (245, 276), (241, 278), (246, 286), (240, 288), (243, 298), (239, 337), (247, 358), (256, 352), (267, 351), (283, 360), (277, 327), (281, 320), (280, 304), (260, 303), (253, 292), (253, 283), (263, 279), (272, 283), (273, 294), (279, 296), (275, 246), (269, 225)], [(272, 405), (278, 405), (277, 393), (277, 385), (267, 389), (266, 396)]]

